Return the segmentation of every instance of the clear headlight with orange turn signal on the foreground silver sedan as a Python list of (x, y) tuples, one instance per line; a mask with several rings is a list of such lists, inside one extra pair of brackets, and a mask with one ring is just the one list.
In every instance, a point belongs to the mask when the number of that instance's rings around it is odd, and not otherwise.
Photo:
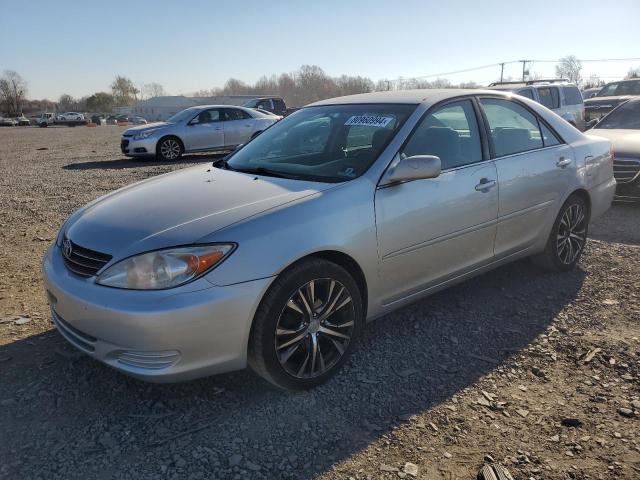
[(198, 245), (143, 253), (105, 270), (96, 283), (131, 290), (162, 290), (183, 285), (218, 265), (234, 244)]

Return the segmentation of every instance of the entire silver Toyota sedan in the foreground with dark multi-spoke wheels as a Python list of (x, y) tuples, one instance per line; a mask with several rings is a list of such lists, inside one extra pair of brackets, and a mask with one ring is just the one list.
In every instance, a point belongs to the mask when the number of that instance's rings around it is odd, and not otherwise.
[(44, 259), (55, 325), (129, 375), (250, 365), (287, 389), (367, 320), (507, 262), (573, 269), (612, 201), (611, 145), (482, 90), (315, 103), (227, 160), (95, 200)]

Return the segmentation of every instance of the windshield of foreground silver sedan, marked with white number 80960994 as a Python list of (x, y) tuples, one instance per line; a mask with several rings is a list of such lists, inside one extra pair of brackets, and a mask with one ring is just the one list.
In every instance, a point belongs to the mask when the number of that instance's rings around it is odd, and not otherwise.
[(298, 110), (228, 161), (235, 170), (326, 182), (362, 175), (415, 105), (329, 105)]

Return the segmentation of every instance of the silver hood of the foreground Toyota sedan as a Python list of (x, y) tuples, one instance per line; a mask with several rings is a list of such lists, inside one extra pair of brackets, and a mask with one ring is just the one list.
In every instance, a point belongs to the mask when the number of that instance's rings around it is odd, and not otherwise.
[(233, 223), (332, 186), (199, 165), (107, 194), (74, 214), (64, 227), (65, 235), (82, 247), (120, 259), (198, 243)]

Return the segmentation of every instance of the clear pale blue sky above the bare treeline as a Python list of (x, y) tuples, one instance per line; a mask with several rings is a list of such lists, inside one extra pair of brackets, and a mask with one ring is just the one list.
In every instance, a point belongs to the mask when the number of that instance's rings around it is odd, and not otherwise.
[[(117, 74), (171, 94), (315, 64), (378, 79), (496, 62), (640, 57), (640, 0), (2, 1), (0, 70), (30, 98), (108, 91)], [(634, 62), (584, 63), (622, 77)], [(532, 71), (553, 75), (553, 64)], [(518, 77), (521, 66), (505, 69)], [(499, 67), (449, 75), (496, 79)]]

